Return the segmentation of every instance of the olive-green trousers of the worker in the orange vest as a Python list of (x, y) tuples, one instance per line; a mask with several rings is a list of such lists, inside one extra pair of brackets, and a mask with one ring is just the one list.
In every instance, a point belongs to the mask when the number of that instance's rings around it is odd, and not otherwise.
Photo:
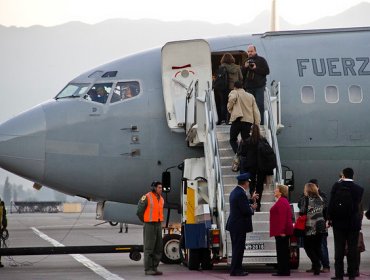
[(162, 257), (162, 224), (144, 223), (144, 269), (156, 271)]

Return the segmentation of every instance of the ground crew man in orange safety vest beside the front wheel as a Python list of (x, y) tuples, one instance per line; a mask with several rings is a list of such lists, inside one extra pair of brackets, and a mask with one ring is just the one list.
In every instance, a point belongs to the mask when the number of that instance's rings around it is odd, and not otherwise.
[(162, 222), (164, 199), (162, 183), (154, 181), (151, 191), (138, 203), (137, 216), (144, 222), (144, 269), (145, 275), (162, 275), (158, 265), (162, 257)]

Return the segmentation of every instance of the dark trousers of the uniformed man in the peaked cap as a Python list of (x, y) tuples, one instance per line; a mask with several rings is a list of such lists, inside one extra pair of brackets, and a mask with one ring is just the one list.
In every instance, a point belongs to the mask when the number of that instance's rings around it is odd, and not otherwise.
[(241, 231), (230, 231), (231, 237), (231, 267), (230, 274), (238, 274), (243, 271), (243, 255), (245, 249), (246, 233)]

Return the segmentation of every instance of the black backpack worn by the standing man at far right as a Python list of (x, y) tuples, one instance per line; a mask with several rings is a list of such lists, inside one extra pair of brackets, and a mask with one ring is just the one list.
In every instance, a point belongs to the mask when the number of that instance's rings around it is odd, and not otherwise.
[(351, 217), (353, 210), (354, 207), (351, 188), (343, 184), (339, 184), (333, 198), (333, 218), (348, 220)]

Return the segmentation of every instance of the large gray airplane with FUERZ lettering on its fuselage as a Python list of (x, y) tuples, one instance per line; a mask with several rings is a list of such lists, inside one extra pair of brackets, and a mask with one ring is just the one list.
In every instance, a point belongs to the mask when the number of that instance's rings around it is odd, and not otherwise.
[[(293, 199), (310, 178), (329, 192), (347, 166), (360, 184), (370, 181), (370, 28), (266, 32), (206, 42), (210, 51), (198, 54), (210, 57), (206, 73), (215, 73), (225, 52), (242, 65), (249, 44), (268, 61), (268, 84), (280, 84), (284, 128), (278, 142), (282, 165), (295, 174)], [(187, 143), (182, 121), (174, 122), (177, 109), (164, 95), (161, 51), (87, 71), (53, 99), (2, 123), (0, 166), (69, 195), (121, 204), (125, 210), (111, 215), (131, 223), (138, 222), (134, 208), (150, 182), (171, 170), (168, 205), (177, 208), (182, 172), (173, 167), (204, 151)], [(186, 89), (181, 79), (194, 74), (191, 65), (173, 70), (172, 81)]]

